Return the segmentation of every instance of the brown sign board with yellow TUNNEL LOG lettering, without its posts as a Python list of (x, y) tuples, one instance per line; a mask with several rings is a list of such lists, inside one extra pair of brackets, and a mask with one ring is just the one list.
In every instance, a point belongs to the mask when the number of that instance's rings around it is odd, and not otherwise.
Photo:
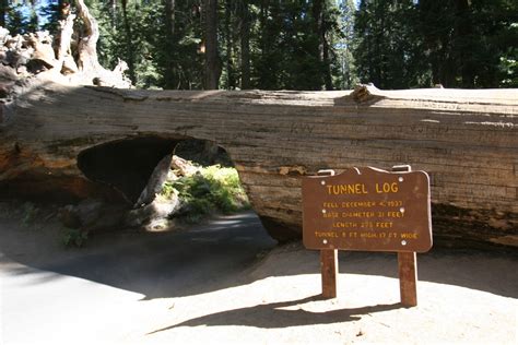
[(305, 177), (303, 240), (308, 249), (426, 252), (432, 248), (429, 178), (372, 167)]

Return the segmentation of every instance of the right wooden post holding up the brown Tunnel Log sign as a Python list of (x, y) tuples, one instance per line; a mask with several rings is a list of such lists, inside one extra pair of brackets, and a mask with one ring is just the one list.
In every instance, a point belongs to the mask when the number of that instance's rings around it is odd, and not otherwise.
[(401, 304), (417, 306), (417, 260), (415, 252), (398, 252), (399, 290)]

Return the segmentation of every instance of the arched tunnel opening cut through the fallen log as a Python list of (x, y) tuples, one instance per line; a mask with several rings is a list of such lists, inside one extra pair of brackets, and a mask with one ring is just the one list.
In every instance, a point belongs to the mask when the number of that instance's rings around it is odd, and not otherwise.
[[(117, 140), (81, 152), (78, 167), (90, 180), (122, 195), (127, 211), (120, 218), (130, 227), (150, 229), (150, 224), (165, 218), (201, 219), (213, 213), (233, 213), (228, 210), (234, 205), (238, 205), (236, 211), (249, 209), (227, 152), (207, 140)], [(86, 202), (75, 210), (91, 209), (95, 207)], [(78, 217), (90, 218), (87, 214)]]

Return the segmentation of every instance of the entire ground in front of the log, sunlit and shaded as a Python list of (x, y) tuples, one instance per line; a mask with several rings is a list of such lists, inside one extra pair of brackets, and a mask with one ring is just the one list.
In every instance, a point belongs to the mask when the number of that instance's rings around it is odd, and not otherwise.
[[(339, 297), (322, 300), (318, 252), (299, 242), (274, 246), (266, 234), (249, 253), (233, 251), (249, 229), (259, 231), (246, 214), (178, 231), (192, 242), (210, 242), (202, 234), (214, 224), (239, 233), (231, 234), (235, 242), (223, 239), (221, 251), (219, 242), (203, 255), (187, 250), (179, 259), (186, 272), (166, 282), (175, 290), (151, 294), (164, 275), (127, 255), (156, 234), (119, 231), (64, 249), (51, 210), (28, 221), (26, 213), (0, 203), (0, 344), (517, 344), (516, 251), (434, 248), (417, 255), (414, 308), (399, 304), (396, 254), (340, 252)], [(251, 223), (239, 227), (245, 221)], [(165, 249), (153, 242), (153, 252), (178, 251), (178, 234), (163, 235)], [(219, 261), (222, 253), (229, 260)], [(244, 254), (252, 260), (233, 261)], [(118, 259), (126, 264), (108, 275), (131, 267), (128, 282), (101, 278)], [(131, 282), (139, 277), (145, 289)]]

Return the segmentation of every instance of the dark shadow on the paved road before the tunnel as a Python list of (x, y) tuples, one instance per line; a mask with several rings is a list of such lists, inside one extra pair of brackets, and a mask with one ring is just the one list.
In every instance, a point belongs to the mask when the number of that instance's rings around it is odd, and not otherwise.
[[(49, 241), (42, 229), (0, 224), (0, 264), (10, 264), (8, 274), (35, 274), (42, 284), (75, 276), (142, 294), (144, 300), (239, 286), (239, 273), (276, 245), (252, 212), (216, 216), (183, 230), (105, 234), (79, 249)], [(228, 279), (233, 276), (238, 278)]]

